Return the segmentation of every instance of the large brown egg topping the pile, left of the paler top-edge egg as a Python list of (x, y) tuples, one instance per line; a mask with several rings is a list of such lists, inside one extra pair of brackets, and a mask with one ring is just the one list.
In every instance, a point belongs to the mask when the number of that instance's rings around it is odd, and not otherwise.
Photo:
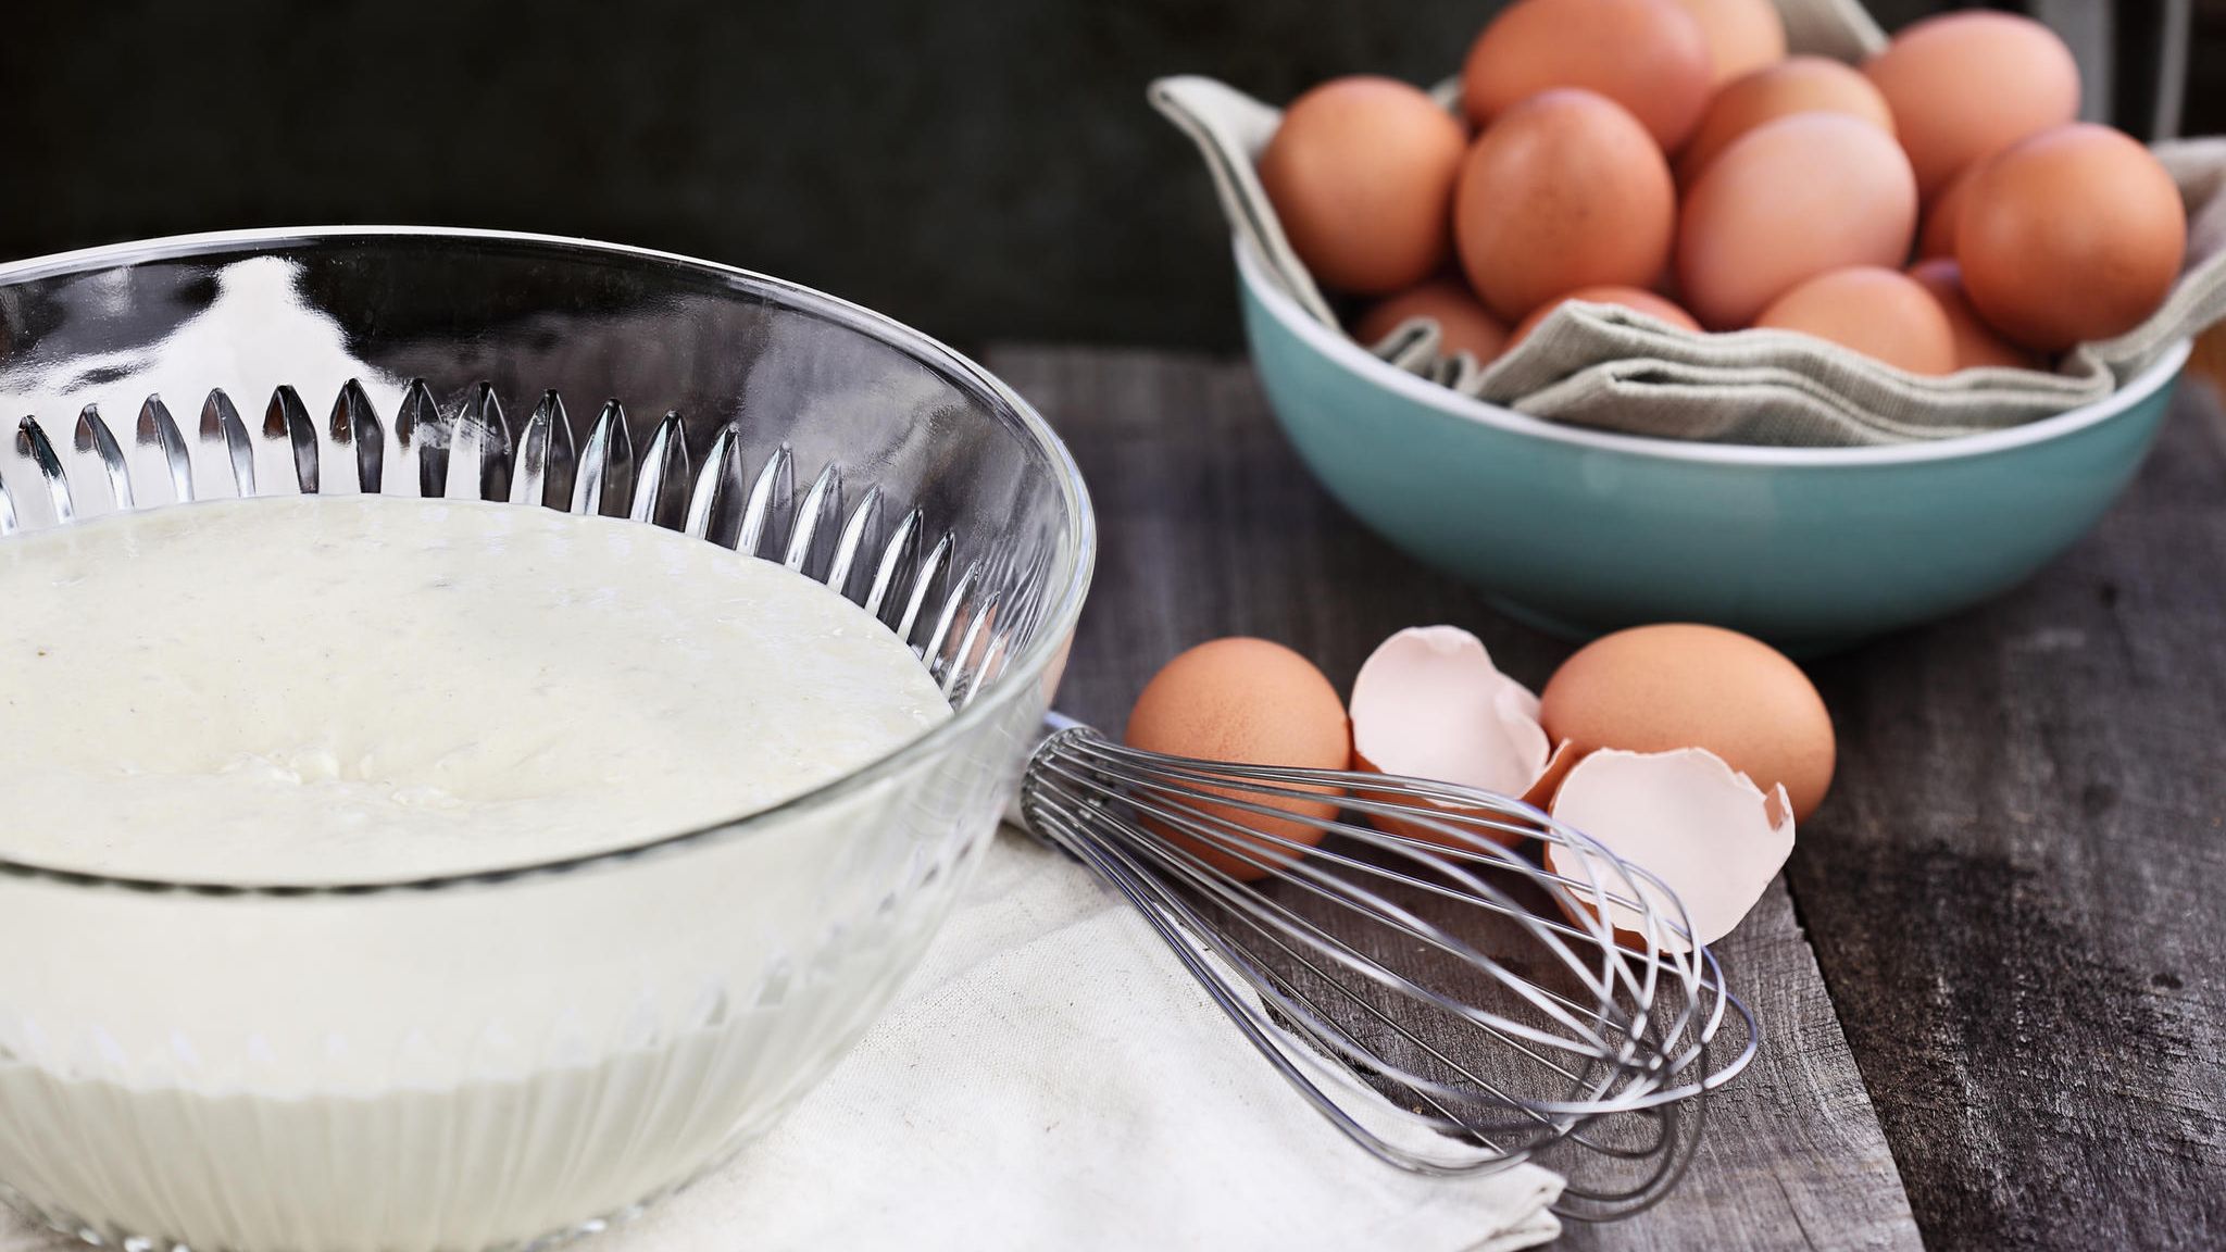
[(1516, 0), (1476, 36), (1460, 98), (1478, 127), (1549, 87), (1623, 105), (1663, 151), (1701, 120), (1707, 36), (1672, 0)]

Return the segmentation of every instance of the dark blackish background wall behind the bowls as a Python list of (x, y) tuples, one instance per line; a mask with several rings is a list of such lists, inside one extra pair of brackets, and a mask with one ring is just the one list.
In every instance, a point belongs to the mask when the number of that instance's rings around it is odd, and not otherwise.
[[(1198, 71), (1267, 100), (1351, 71), (1431, 82), (1496, 7), (11, 0), (0, 254), (485, 225), (730, 261), (968, 345), (1227, 348), (1222, 227), (1144, 82)], [(2115, 96), (2150, 89), (2168, 7), (2117, 4)], [(2226, 0), (2195, 9), (2184, 129), (2226, 129), (2226, 74), (2206, 74), (2226, 67)]]

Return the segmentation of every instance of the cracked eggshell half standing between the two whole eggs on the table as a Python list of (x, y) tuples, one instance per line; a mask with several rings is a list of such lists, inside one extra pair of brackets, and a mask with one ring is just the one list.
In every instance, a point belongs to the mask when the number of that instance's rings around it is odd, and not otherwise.
[[(1458, 626), (1414, 626), (1385, 639), (1360, 666), (1349, 711), (1353, 769), (1367, 773), (1454, 782), (1540, 804), (1572, 760), (1549, 751), (1538, 697), (1503, 675), (1483, 639)], [(1376, 813), (1369, 820), (1380, 831), (1447, 842), (1414, 822)], [(1518, 842), (1500, 831), (1478, 833)]]

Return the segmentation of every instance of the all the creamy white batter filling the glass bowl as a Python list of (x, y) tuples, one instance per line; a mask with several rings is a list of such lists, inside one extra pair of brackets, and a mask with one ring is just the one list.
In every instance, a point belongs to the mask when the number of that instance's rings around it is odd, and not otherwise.
[[(0, 539), (0, 858), (98, 876), (332, 887), (592, 855), (775, 806), (951, 715), (828, 588), (541, 508), (105, 517)], [(768, 1058), (861, 1029), (859, 980), (899, 978), (888, 953), (917, 945), (890, 936), (933, 925), (897, 909), (792, 951), (815, 891), (873, 878), (826, 867), (837, 818), (652, 858), (626, 891), (56, 887), (49, 922), (29, 898), (13, 925), (51, 942), (0, 978), (0, 1194), (240, 1252), (496, 1248), (637, 1203), (761, 1129), (833, 1054)], [(748, 956), (759, 931), (777, 960)], [(332, 942), (329, 978), (256, 974), (265, 942)], [(479, 965), (519, 985), (490, 994)]]

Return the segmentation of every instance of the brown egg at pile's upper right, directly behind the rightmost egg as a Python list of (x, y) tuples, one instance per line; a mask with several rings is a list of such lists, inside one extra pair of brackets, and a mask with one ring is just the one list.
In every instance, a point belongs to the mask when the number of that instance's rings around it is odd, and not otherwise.
[(2079, 116), (2079, 65), (2055, 31), (2017, 13), (1961, 11), (1908, 25), (1863, 65), (1930, 200), (1957, 174)]

